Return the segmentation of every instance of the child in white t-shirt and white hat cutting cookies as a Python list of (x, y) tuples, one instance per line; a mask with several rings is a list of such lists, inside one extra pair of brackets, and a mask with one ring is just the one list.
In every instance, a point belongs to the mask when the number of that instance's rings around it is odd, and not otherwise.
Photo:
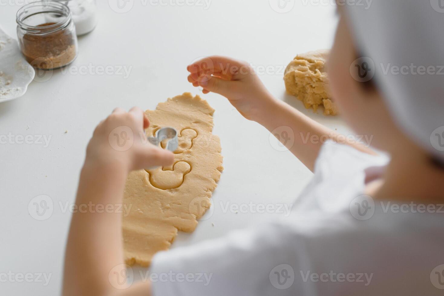
[[(188, 66), (188, 81), (227, 97), (247, 119), (270, 131), (290, 126), (297, 135), (329, 136), (325, 144), (296, 136), (288, 147), (314, 171), (296, 212), (285, 222), (160, 252), (151, 264), (153, 274), (204, 273), (206, 280), (159, 277), (122, 290), (109, 277), (124, 269), (121, 214), (75, 213), (63, 295), (441, 294), (444, 80), (416, 75), (410, 65), (429, 69), (444, 61), (444, 15), (429, 1), (374, 1), (369, 9), (344, 3), (338, 1), (341, 19), (329, 60), (333, 99), (349, 125), (372, 135), (373, 146), (391, 159), (359, 144), (336, 143), (329, 129), (275, 99), (247, 63), (198, 61)], [(410, 72), (396, 74), (392, 66)], [(363, 71), (374, 78), (365, 79)], [(148, 124), (143, 111), (133, 108), (115, 109), (98, 125), (77, 203), (120, 203), (129, 171), (172, 163), (170, 152), (138, 138)], [(117, 152), (108, 135), (122, 125), (135, 140), (131, 149)]]

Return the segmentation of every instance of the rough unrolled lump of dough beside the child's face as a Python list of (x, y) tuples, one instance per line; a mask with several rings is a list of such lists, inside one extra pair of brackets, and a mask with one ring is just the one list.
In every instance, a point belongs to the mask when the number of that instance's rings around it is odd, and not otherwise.
[(337, 106), (331, 101), (329, 79), (325, 71), (329, 50), (310, 51), (297, 55), (285, 70), (285, 88), (297, 96), (305, 108), (324, 106), (324, 115), (336, 115)]

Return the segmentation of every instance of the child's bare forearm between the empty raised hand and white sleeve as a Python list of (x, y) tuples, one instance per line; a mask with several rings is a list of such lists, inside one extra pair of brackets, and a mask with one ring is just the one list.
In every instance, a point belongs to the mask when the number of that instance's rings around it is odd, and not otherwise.
[[(276, 136), (294, 156), (313, 171), (314, 163), (322, 143), (328, 139), (338, 140), (338, 136), (341, 135), (305, 116), (283, 101), (276, 100), (272, 97), (264, 101), (267, 101), (267, 105), (262, 108), (263, 114), (257, 116), (255, 120), (270, 132), (273, 132), (274, 136)], [(289, 127), (289, 132), (282, 134), (282, 132), (287, 131), (288, 128), (280, 127)], [(345, 139), (345, 137), (343, 137), (343, 139)], [(339, 142), (343, 142), (343, 140), (341, 139)], [(346, 141), (346, 144), (362, 152), (374, 154), (371, 149), (365, 148), (363, 144), (352, 141)]]

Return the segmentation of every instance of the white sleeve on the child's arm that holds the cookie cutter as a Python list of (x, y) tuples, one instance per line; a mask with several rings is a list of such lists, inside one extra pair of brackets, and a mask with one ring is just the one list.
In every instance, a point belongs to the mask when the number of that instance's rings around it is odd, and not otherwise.
[(308, 256), (298, 241), (285, 226), (268, 223), (160, 252), (151, 264), (153, 295), (309, 295), (299, 276)]

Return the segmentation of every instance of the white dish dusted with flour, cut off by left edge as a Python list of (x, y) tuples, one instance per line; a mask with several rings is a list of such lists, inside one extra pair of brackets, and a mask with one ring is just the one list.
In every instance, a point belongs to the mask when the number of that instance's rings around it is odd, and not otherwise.
[(0, 102), (23, 96), (35, 74), (17, 41), (0, 28)]

